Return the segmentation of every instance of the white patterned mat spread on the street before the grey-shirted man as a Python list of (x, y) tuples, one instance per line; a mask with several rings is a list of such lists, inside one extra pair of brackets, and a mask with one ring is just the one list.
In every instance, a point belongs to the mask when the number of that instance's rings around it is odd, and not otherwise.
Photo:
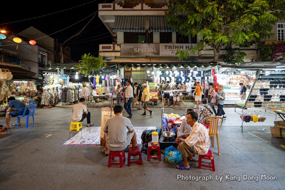
[[(144, 130), (156, 129), (156, 127), (134, 127), (137, 134), (137, 145), (141, 145), (141, 136)], [(101, 127), (84, 127), (60, 146), (71, 145), (100, 145)]]

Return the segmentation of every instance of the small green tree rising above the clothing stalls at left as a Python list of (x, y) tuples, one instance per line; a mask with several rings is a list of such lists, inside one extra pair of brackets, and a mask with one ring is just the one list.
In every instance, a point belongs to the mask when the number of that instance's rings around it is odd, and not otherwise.
[(95, 70), (101, 69), (106, 66), (107, 63), (104, 62), (103, 58), (99, 55), (98, 58), (90, 55), (90, 53), (82, 55), (81, 60), (79, 60), (78, 65), (74, 68), (78, 70), (78, 73), (83, 74), (88, 77), (89, 84), (92, 86), (89, 76), (94, 74)]

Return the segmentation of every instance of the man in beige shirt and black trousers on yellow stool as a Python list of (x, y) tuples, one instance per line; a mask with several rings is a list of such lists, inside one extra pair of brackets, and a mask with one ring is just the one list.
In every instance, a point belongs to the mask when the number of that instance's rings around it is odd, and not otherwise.
[(93, 123), (91, 124), (90, 112), (87, 111), (84, 101), (84, 98), (80, 98), (79, 103), (73, 106), (71, 120), (72, 122), (82, 122), (87, 117), (86, 127), (91, 127), (93, 126)]

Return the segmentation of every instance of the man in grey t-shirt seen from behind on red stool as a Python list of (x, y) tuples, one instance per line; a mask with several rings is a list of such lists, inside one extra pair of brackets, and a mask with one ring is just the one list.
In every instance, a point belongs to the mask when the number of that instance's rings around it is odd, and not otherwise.
[[(136, 146), (137, 135), (129, 118), (123, 117), (123, 107), (116, 105), (114, 107), (114, 117), (107, 119), (104, 127), (105, 148), (101, 150), (104, 156), (109, 155), (110, 151), (125, 150), (132, 142)], [(128, 130), (128, 132), (126, 132)]]

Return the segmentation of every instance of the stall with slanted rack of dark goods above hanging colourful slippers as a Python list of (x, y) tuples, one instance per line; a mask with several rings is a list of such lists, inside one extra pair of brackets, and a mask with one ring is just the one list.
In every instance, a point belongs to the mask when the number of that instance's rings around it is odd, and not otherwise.
[[(242, 132), (243, 122), (264, 122), (266, 116), (276, 114), (272, 112), (272, 109), (276, 111), (285, 107), (285, 86), (283, 85), (285, 84), (285, 69), (283, 67), (285, 67), (284, 62), (242, 63), (233, 66), (236, 72), (255, 73), (239, 79), (245, 86), (248, 85), (248, 93), (246, 100), (237, 100), (235, 105), (243, 108), (262, 107), (264, 109), (263, 111), (261, 109), (236, 110), (235, 107), (235, 112), (240, 114), (242, 120)], [(236, 85), (234, 81), (233, 84)]]

